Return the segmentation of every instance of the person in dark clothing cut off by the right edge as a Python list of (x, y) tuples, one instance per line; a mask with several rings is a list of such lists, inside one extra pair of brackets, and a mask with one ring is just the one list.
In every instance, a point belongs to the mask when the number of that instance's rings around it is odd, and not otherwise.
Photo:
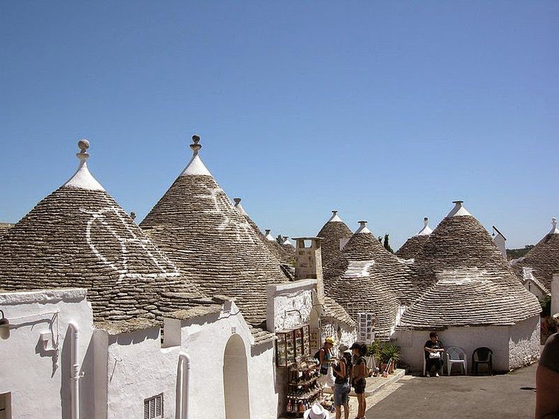
[(536, 369), (536, 419), (559, 418), (559, 333), (551, 335)]

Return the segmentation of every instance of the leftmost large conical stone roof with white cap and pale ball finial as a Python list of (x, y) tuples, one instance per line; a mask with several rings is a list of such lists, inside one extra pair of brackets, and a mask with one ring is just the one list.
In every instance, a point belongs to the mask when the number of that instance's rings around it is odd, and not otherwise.
[[(0, 242), (0, 287), (86, 287), (96, 321), (155, 318), (203, 297), (91, 176), (79, 142), (78, 171)], [(177, 304), (163, 304), (178, 293)], [(188, 296), (188, 298), (187, 298)]]

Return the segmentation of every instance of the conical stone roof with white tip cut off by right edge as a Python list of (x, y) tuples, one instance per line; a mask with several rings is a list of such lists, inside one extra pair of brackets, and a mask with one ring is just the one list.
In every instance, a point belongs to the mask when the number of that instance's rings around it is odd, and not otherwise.
[(553, 274), (559, 273), (559, 229), (555, 218), (551, 219), (551, 231), (512, 268), (519, 277), (522, 277), (522, 268), (532, 268), (532, 275), (551, 292)]

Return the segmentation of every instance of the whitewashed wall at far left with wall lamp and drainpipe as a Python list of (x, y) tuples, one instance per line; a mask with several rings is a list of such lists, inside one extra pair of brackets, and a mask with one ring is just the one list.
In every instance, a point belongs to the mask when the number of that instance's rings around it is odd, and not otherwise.
[[(87, 395), (93, 390), (93, 374), (82, 365), (93, 333), (86, 289), (4, 292), (0, 308), (11, 325), (10, 338), (0, 340), (0, 393), (11, 393), (13, 418), (70, 418), (70, 321), (79, 327), (78, 361), (85, 373), (80, 379), (81, 417), (92, 418), (93, 403)], [(54, 316), (52, 312), (58, 310)], [(42, 348), (40, 334), (47, 331), (58, 337), (58, 353)]]

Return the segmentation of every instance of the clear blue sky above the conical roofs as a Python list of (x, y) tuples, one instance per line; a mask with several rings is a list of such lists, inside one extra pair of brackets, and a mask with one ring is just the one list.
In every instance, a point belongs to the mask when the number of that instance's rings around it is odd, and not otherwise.
[(191, 157), (261, 229), (393, 248), (452, 200), (559, 217), (559, 1), (1, 1), (0, 221), (91, 172), (140, 221)]

